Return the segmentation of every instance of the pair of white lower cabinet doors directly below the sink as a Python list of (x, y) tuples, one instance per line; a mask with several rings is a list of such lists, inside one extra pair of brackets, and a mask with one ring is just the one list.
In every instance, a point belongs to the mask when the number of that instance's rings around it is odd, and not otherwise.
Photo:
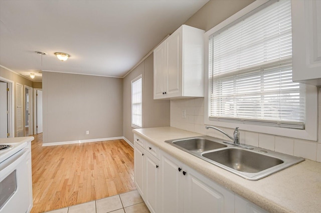
[(234, 212), (234, 193), (163, 152), (161, 212)]

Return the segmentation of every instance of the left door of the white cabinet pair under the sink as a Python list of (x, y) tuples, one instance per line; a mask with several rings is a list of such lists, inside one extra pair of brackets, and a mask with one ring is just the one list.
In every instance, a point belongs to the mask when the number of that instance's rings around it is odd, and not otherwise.
[(180, 162), (165, 152), (161, 153), (161, 203), (163, 213), (183, 212), (183, 193), (181, 192), (182, 170)]

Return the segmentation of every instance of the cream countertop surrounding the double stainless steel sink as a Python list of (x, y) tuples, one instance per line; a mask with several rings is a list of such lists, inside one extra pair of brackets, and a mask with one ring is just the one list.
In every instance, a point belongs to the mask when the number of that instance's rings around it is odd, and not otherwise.
[(321, 212), (321, 163), (305, 160), (251, 181), (202, 160), (165, 140), (201, 135), (175, 127), (133, 129), (133, 132), (235, 193), (269, 212)]

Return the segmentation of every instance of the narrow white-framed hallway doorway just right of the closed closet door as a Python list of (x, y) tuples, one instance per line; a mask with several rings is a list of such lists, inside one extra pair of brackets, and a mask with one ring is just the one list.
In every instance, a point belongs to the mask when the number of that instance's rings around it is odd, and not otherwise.
[(33, 88), (25, 85), (25, 136), (33, 134)]

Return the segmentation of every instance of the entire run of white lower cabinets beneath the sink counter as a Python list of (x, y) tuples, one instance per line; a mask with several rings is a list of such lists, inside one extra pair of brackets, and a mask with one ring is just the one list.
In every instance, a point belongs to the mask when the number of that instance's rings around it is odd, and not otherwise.
[(135, 184), (150, 212), (267, 212), (157, 146), (134, 138)]

